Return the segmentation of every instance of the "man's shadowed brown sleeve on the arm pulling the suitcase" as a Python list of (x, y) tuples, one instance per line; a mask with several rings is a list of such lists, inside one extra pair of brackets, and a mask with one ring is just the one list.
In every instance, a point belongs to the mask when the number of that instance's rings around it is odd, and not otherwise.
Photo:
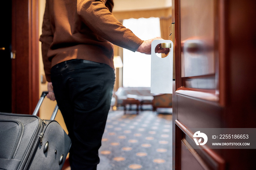
[(47, 53), (50, 48), (50, 45), (53, 42), (53, 33), (51, 30), (51, 24), (50, 24), (49, 17), (50, 16), (49, 16), (48, 1), (46, 1), (44, 20), (43, 20), (43, 24), (42, 24), (42, 34), (41, 34), (39, 40), (42, 42), (42, 45), (41, 45), (42, 58), (43, 58), (43, 63), (44, 63), (44, 71), (45, 71), (46, 80), (48, 82), (51, 82), (51, 79), (50, 79), (51, 62), (49, 61), (49, 59), (47, 57)]

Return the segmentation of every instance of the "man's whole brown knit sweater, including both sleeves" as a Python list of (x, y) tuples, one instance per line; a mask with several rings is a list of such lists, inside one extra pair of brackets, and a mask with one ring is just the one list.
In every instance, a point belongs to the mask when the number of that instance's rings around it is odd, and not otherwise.
[(46, 0), (42, 57), (47, 81), (50, 69), (69, 59), (113, 65), (113, 44), (136, 51), (143, 40), (113, 16), (113, 0)]

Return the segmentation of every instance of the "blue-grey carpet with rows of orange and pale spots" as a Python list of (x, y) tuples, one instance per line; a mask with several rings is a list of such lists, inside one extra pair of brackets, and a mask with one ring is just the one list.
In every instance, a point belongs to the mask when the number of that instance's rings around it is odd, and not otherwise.
[(171, 170), (172, 115), (110, 111), (97, 170)]

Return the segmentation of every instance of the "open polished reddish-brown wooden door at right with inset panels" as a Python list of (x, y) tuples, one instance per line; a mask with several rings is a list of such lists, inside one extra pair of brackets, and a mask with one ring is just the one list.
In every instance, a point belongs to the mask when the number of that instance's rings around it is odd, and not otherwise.
[(255, 169), (254, 149), (191, 147), (193, 128), (256, 127), (256, 1), (173, 0), (173, 169)]

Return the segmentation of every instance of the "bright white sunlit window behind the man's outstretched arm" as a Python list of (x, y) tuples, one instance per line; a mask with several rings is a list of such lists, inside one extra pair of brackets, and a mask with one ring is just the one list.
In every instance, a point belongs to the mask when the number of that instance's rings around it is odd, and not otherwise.
[[(161, 36), (159, 18), (125, 19), (123, 25), (142, 40)], [(123, 50), (124, 87), (150, 87), (150, 75), (151, 55)]]

